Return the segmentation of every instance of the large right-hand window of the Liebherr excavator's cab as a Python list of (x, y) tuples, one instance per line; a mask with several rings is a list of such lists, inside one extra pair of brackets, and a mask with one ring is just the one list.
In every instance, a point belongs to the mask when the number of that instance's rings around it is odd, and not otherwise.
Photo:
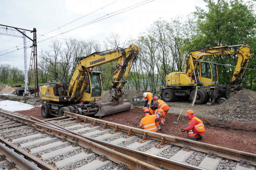
[(101, 96), (101, 80), (99, 74), (90, 74), (92, 85), (92, 97)]

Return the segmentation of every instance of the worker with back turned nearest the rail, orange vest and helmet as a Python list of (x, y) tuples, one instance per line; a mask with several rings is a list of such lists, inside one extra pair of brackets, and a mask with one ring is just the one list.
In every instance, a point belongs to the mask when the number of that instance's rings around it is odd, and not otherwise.
[(145, 117), (141, 119), (139, 126), (137, 126), (138, 128), (143, 127), (145, 130), (149, 130), (149, 131), (157, 131), (157, 127), (156, 127), (156, 121), (159, 121), (160, 119), (158, 119), (158, 117), (160, 117), (160, 113), (157, 114), (153, 114), (150, 115), (149, 109), (148, 108), (143, 108), (143, 112)]

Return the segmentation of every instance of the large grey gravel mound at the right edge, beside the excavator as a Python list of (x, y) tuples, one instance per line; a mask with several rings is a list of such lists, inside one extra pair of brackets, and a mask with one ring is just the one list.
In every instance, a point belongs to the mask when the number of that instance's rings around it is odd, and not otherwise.
[(256, 123), (256, 92), (241, 90), (210, 112), (219, 120)]

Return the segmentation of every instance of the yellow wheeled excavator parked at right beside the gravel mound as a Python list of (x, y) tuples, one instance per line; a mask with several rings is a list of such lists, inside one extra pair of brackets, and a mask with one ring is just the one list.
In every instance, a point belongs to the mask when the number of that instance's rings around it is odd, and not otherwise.
[[(232, 50), (234, 47), (240, 47)], [(236, 67), (229, 85), (218, 84), (216, 63), (200, 61), (204, 56), (230, 55), (237, 57)], [(185, 72), (173, 72), (166, 75), (166, 86), (160, 89), (160, 96), (165, 102), (175, 101), (176, 98), (190, 97), (194, 99), (195, 87), (198, 86), (195, 104), (207, 102), (210, 106), (215, 101), (223, 103), (228, 94), (241, 90), (241, 80), (251, 59), (251, 48), (248, 44), (205, 47), (189, 51)]]

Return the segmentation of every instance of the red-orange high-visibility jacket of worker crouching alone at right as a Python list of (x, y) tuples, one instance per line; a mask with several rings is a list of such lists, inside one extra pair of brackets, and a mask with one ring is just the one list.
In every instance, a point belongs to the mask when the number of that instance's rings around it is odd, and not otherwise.
[(204, 133), (204, 125), (203, 125), (203, 122), (199, 118), (194, 116), (189, 121), (188, 127), (184, 128), (184, 130), (186, 130), (186, 131), (193, 130), (193, 132), (202, 135)]

